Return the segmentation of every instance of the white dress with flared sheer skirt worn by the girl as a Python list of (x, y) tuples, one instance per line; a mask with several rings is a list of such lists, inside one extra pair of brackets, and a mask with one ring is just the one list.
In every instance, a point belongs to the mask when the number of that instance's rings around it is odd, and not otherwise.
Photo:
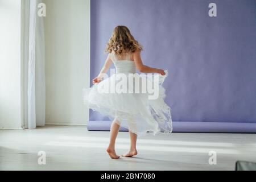
[[(134, 61), (130, 59), (131, 55), (125, 58), (119, 58), (111, 53), (112, 61), (115, 66), (115, 73), (105, 78), (99, 84), (93, 85), (89, 89), (84, 90), (84, 102), (90, 109), (98, 111), (101, 114), (108, 116), (110, 119), (115, 119), (119, 125), (129, 129), (129, 131), (138, 136), (146, 135), (147, 133), (156, 134), (160, 131), (164, 133), (172, 132), (172, 119), (170, 107), (164, 102), (166, 90), (162, 84), (166, 75), (160, 74), (150, 77), (148, 75), (138, 75)], [(134, 82), (130, 82), (128, 75), (133, 75), (136, 78), (146, 78), (147, 83), (156, 84), (155, 78), (159, 77), (158, 98), (152, 98), (152, 93), (141, 92), (142, 82), (139, 82), (139, 93), (135, 92)], [(125, 77), (126, 80), (125, 80)], [(113, 92), (118, 88), (117, 82), (125, 80), (128, 91)], [(133, 78), (134, 80), (135, 78)], [(122, 81), (123, 81), (122, 80)], [(115, 81), (115, 85), (112, 84)], [(144, 80), (145, 81), (145, 80)], [(113, 88), (115, 87), (115, 88)], [(105, 88), (105, 91), (103, 91)], [(106, 89), (107, 88), (107, 89)], [(124, 88), (120, 86), (119, 88)], [(112, 89), (112, 92), (111, 92)], [(106, 92), (108, 90), (109, 92)], [(156, 92), (155, 92), (156, 93)], [(93, 122), (93, 121), (92, 121)]]

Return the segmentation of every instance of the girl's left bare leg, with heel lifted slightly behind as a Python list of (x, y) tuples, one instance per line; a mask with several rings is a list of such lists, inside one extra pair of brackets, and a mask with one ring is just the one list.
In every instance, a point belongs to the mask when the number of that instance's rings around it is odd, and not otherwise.
[(114, 119), (114, 121), (112, 122), (111, 129), (110, 129), (110, 142), (109, 142), (109, 147), (107, 148), (107, 152), (110, 158), (112, 159), (120, 158), (120, 156), (115, 154), (115, 139), (117, 138), (119, 127), (120, 127), (120, 125), (118, 125), (117, 122), (118, 122), (117, 119)]

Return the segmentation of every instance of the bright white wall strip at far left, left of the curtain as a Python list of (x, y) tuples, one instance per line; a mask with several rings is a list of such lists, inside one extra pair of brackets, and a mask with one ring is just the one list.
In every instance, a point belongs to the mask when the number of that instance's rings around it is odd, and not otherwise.
[(21, 0), (0, 0), (0, 129), (22, 129)]

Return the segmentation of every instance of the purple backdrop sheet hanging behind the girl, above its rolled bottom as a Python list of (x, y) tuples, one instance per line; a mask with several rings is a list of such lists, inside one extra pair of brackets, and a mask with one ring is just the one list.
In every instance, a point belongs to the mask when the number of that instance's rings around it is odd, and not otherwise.
[[(211, 2), (216, 18), (208, 15)], [(143, 45), (144, 64), (169, 70), (173, 121), (256, 123), (255, 0), (93, 0), (91, 78), (119, 24)], [(90, 111), (90, 121), (102, 120)]]

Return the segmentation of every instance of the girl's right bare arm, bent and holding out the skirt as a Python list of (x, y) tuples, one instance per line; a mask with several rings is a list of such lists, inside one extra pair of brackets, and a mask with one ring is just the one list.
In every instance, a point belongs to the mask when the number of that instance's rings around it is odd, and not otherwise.
[(142, 63), (140, 51), (134, 52), (133, 59), (134, 59), (134, 63), (136, 65), (137, 69), (142, 73), (159, 73), (161, 75), (166, 75), (166, 73), (163, 71), (163, 69), (151, 68), (151, 67), (144, 65)]

